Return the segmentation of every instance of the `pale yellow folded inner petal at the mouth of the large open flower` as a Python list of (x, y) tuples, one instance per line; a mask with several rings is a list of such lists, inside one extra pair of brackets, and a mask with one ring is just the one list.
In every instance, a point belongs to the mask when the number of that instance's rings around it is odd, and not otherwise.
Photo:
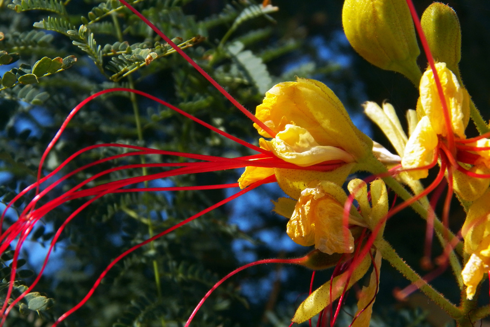
[(287, 124), (272, 141), (263, 141), (272, 153), (286, 162), (300, 167), (316, 165), (329, 160), (354, 162), (347, 151), (331, 146), (319, 145), (304, 128)]

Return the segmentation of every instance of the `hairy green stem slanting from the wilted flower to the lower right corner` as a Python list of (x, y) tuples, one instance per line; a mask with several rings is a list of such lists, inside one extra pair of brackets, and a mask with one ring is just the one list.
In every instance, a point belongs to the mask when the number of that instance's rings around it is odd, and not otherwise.
[(391, 266), (398, 269), (409, 281), (417, 285), (427, 297), (432, 299), (439, 307), (446, 311), (451, 318), (459, 320), (462, 318), (461, 310), (451, 303), (442, 294), (432, 288), (425, 280), (423, 280), (413, 269), (407, 265), (405, 261), (395, 252), (391, 245), (384, 239), (377, 239), (374, 242), (376, 248), (381, 252), (381, 255), (387, 260)]

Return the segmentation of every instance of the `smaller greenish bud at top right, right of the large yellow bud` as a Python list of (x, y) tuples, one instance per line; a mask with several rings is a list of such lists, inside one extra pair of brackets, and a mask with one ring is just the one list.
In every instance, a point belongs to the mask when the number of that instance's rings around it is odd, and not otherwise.
[(420, 23), (434, 59), (445, 62), (459, 78), (461, 27), (456, 12), (447, 4), (434, 2), (425, 9)]

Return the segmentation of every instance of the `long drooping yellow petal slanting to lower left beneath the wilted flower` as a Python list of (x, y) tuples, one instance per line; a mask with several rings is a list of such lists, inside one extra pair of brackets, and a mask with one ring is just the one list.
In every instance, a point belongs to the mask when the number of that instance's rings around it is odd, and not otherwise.
[[(367, 269), (371, 265), (371, 258), (366, 256), (359, 266), (354, 269), (351, 279), (349, 280), (349, 285), (347, 289), (351, 288), (355, 282), (357, 282), (362, 276), (367, 272)], [(330, 281), (320, 286), (313, 293), (311, 293), (300, 305), (298, 310), (293, 317), (293, 322), (300, 324), (302, 322), (311, 319), (314, 315), (325, 309), (325, 307), (330, 304), (330, 288), (331, 288), (331, 298), (332, 300), (337, 299), (342, 294), (344, 286), (349, 277), (350, 270), (340, 274), (333, 278), (331, 284)]]

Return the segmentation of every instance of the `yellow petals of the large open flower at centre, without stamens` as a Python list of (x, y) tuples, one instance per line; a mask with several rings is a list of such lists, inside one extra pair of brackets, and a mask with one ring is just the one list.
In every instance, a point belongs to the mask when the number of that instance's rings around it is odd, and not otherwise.
[[(354, 126), (340, 100), (321, 82), (298, 78), (277, 84), (266, 93), (255, 116), (276, 133), (270, 141), (260, 139), (261, 148), (303, 169), (247, 167), (239, 179), (242, 188), (275, 175), (283, 191), (298, 199), (310, 181), (342, 184), (355, 163), (373, 157), (373, 141)], [(254, 127), (260, 135), (272, 137)], [(322, 163), (342, 165), (330, 171), (304, 169)]]

